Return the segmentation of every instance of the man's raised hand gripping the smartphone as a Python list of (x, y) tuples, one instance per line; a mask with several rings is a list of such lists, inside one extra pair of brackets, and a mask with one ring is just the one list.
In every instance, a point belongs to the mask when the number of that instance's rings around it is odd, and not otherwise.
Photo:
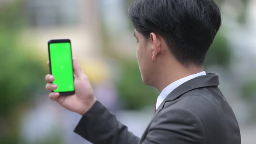
[[(97, 101), (93, 96), (92, 86), (89, 79), (82, 71), (75, 59), (73, 61), (74, 77), (75, 77), (75, 94), (74, 95), (59, 95), (59, 92), (52, 92), (58, 85), (53, 84), (53, 75), (46, 75), (46, 89), (50, 91), (49, 98), (58, 102), (62, 107), (69, 111), (74, 111), (80, 115), (84, 115), (92, 105)], [(49, 61), (47, 62), (49, 65)]]

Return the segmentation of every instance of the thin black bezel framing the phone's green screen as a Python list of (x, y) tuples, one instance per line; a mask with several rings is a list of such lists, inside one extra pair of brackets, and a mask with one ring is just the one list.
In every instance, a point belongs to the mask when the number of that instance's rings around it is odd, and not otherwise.
[[(72, 60), (73, 57), (72, 57), (72, 46), (71, 46), (70, 39), (51, 39), (51, 40), (49, 40), (48, 41), (49, 68), (50, 68), (50, 74), (52, 75), (51, 56), (50, 56), (50, 44), (51, 43), (70, 43), (71, 60)], [(72, 68), (73, 68), (73, 62), (72, 62)], [(73, 72), (73, 75), (74, 75), (74, 72)], [(74, 91), (59, 92), (59, 95), (73, 95), (73, 94), (75, 94), (75, 88), (74, 88)]]

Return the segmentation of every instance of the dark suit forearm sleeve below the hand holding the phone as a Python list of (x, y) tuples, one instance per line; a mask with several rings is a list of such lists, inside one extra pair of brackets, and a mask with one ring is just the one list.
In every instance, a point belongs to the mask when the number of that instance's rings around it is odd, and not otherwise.
[(93, 144), (138, 144), (139, 141), (99, 101), (82, 116), (74, 132)]

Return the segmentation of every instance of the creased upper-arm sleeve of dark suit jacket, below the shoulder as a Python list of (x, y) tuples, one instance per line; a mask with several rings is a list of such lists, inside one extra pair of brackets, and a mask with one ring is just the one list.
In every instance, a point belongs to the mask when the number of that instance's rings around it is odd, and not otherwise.
[(200, 119), (184, 108), (163, 109), (156, 115), (142, 144), (204, 144)]

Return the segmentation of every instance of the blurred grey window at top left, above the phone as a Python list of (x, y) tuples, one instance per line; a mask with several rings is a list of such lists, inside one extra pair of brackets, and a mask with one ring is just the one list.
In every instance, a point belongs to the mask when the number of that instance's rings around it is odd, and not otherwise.
[(79, 8), (79, 0), (25, 0), (30, 26), (76, 25)]

